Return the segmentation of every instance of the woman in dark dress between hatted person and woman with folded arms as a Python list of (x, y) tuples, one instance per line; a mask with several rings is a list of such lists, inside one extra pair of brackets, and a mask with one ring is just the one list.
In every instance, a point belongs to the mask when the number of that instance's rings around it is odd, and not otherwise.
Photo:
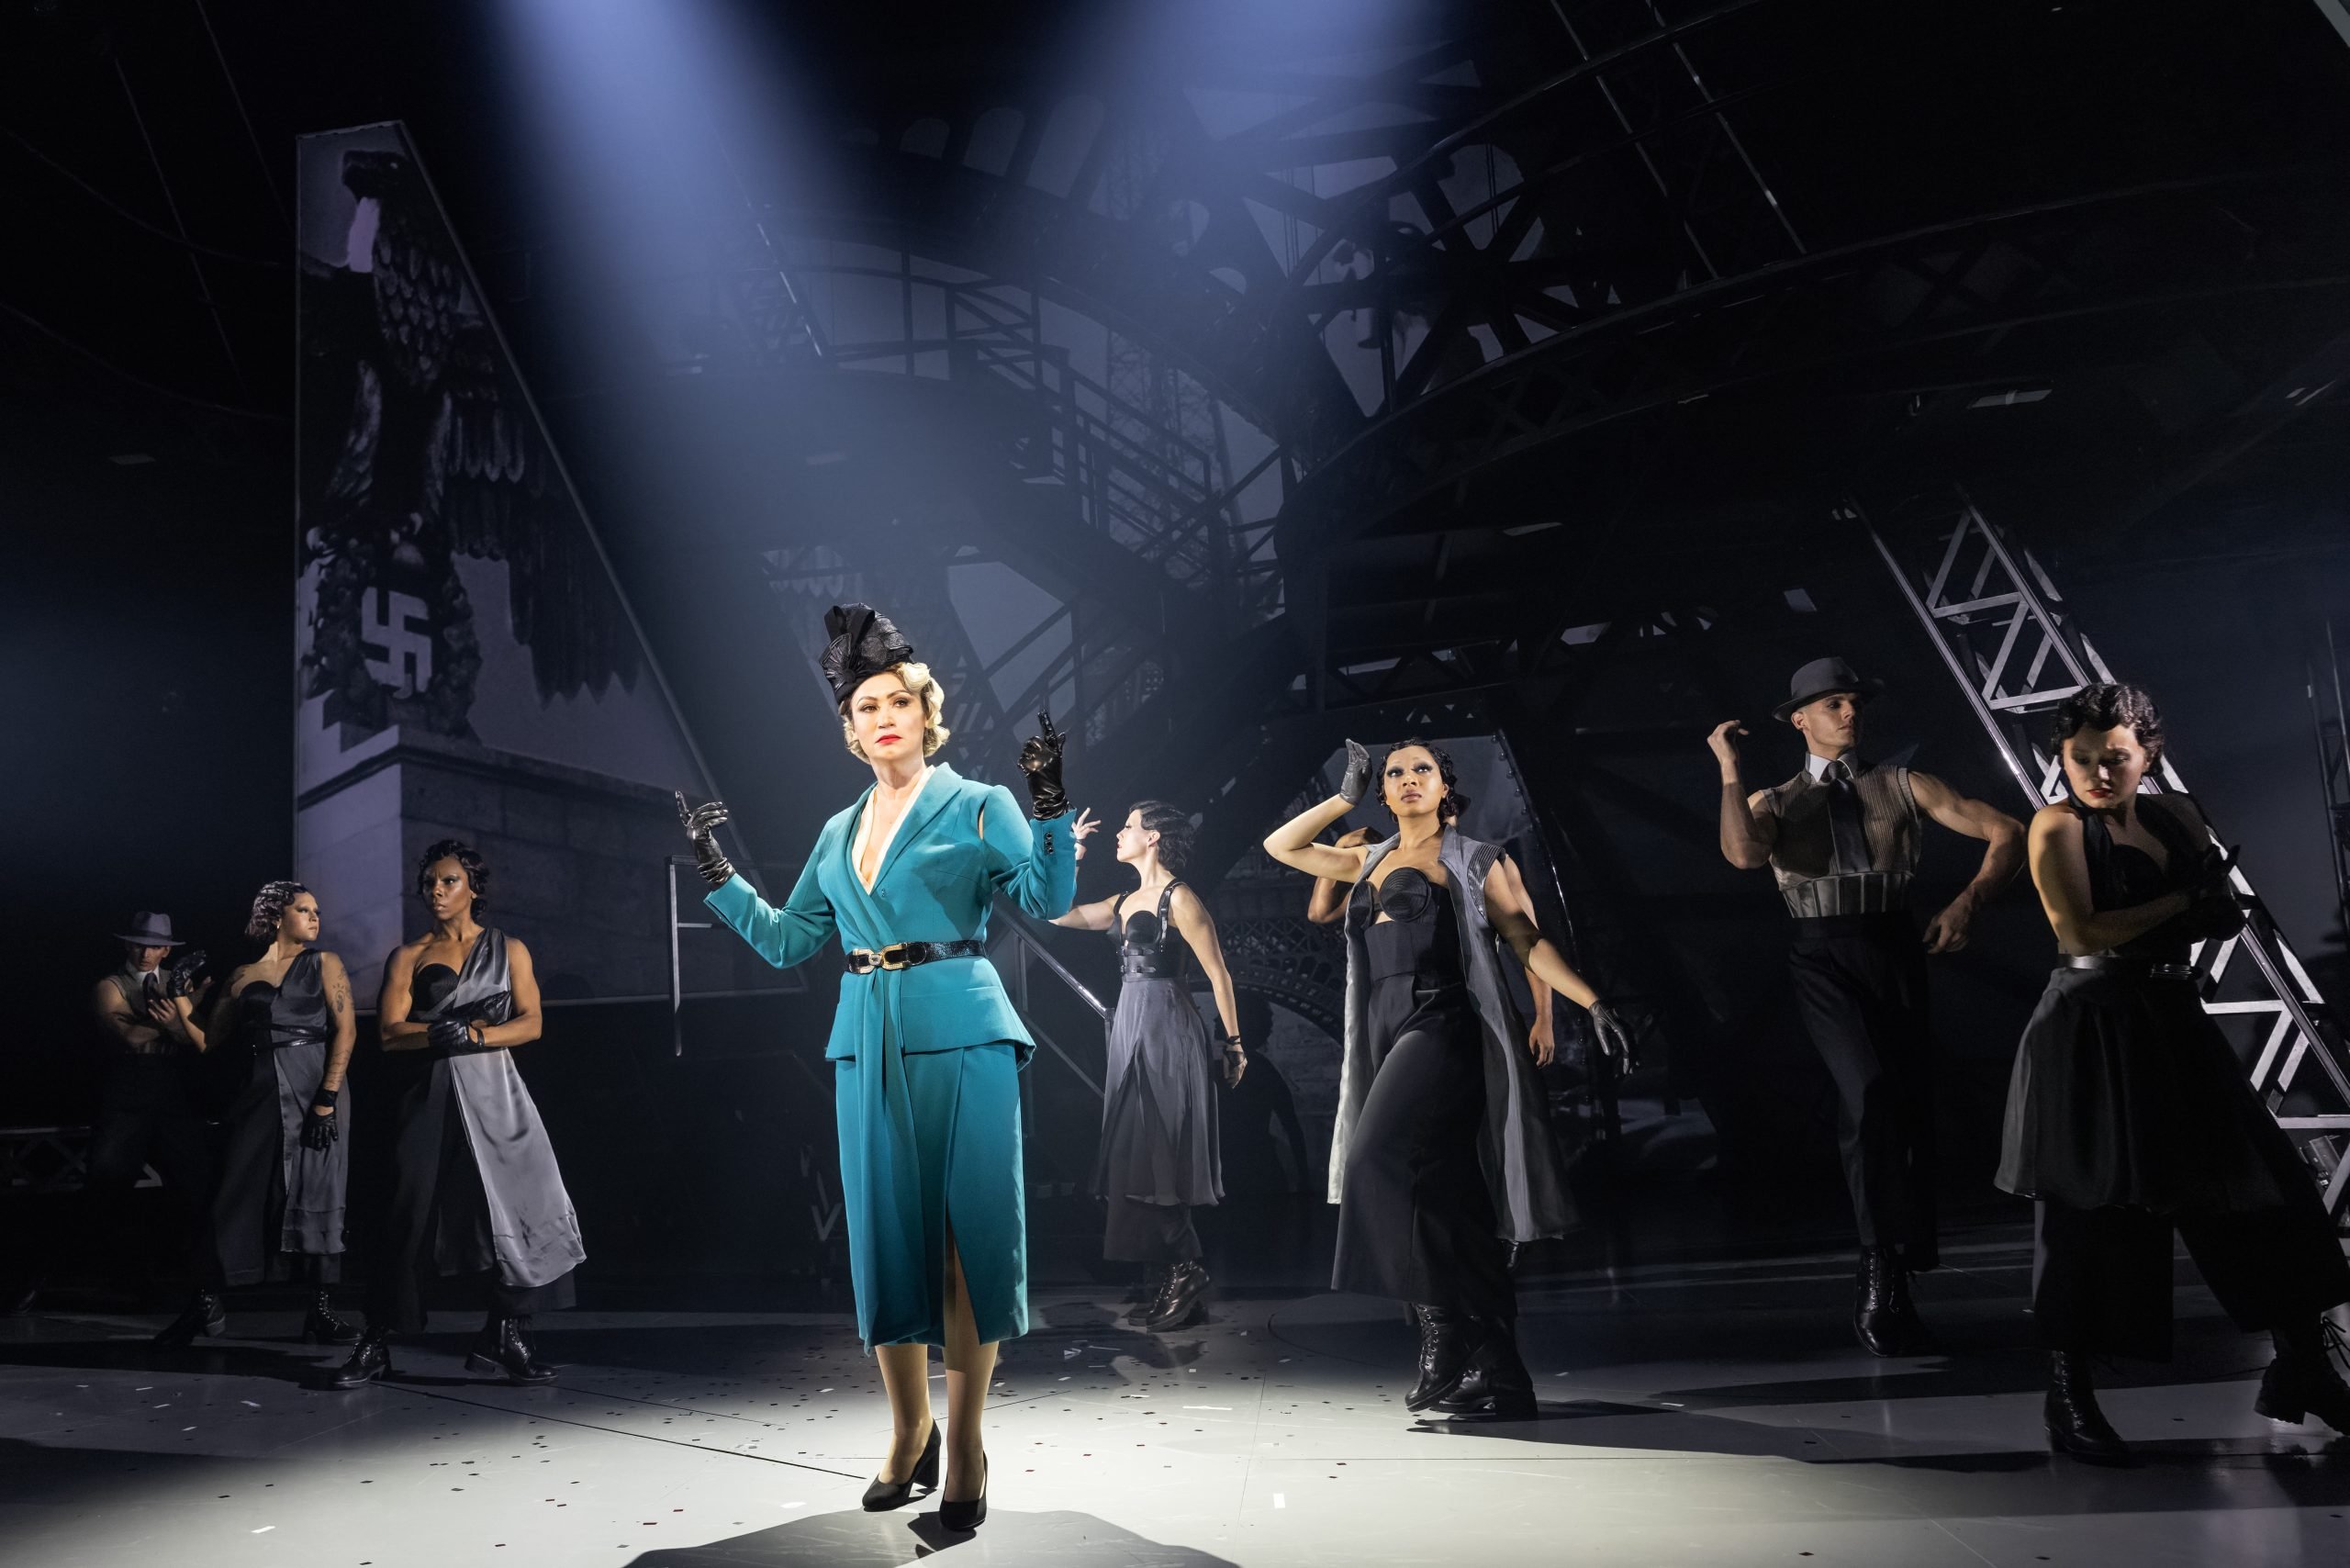
[[(327, 1286), (343, 1276), (343, 1190), (350, 1178), (350, 1103), (343, 1074), (357, 1020), (343, 959), (313, 947), (317, 896), (298, 882), (254, 893), (244, 936), (268, 943), (221, 985), (212, 1016), (174, 997), (164, 1027), (204, 1051), (237, 1041), (251, 1072), (223, 1121), (228, 1150), (212, 1197), (219, 1288), (294, 1279), (308, 1286), (308, 1345), (350, 1345), (360, 1331), (338, 1319)], [(223, 1312), (216, 1291), (204, 1305)], [(216, 1333), (216, 1331), (214, 1331)]]

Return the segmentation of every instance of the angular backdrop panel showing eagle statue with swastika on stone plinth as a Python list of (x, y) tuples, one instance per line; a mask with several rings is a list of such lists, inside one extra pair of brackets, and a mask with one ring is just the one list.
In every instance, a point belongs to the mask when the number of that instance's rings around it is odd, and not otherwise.
[(327, 943), (374, 999), (423, 926), (416, 856), (461, 837), (550, 997), (665, 992), (670, 790), (712, 790), (400, 125), (301, 141), (298, 421), (296, 875)]

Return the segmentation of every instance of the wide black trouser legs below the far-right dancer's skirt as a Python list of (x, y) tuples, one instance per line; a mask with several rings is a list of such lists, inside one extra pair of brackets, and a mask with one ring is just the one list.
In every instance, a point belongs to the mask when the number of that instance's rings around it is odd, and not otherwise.
[(2171, 1229), (2237, 1328), (2289, 1328), (2350, 1300), (2350, 1262), (2315, 1201), (2254, 1213), (2035, 1204), (2033, 1328), (2044, 1349), (2171, 1359)]

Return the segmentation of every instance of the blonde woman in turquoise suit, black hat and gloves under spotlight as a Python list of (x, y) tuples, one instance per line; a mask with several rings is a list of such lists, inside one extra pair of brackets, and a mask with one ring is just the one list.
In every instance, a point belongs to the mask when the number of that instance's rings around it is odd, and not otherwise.
[(980, 1410), (996, 1342), (1027, 1333), (1020, 1088), (1034, 1041), (985, 957), (987, 910), (1010, 896), (1039, 919), (1069, 910), (1076, 844), (1050, 719), (1020, 748), (1029, 811), (1010, 790), (956, 776), (945, 691), (888, 618), (825, 614), (822, 668), (848, 752), (874, 783), (825, 823), (783, 907), (719, 851), (726, 806), (679, 816), (712, 884), (710, 907), (778, 969), (834, 936), (846, 954), (825, 1056), (834, 1065), (841, 1199), (858, 1338), (881, 1363), (895, 1427), (867, 1509), (938, 1486), (928, 1345), (947, 1359), (947, 1488), (940, 1523), (987, 1516)]

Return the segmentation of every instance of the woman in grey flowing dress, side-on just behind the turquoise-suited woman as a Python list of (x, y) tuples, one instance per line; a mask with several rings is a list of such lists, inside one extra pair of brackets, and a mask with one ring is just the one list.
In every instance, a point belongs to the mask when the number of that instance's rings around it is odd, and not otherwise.
[[(1081, 853), (1093, 827), (1090, 818), (1076, 825)], [(1107, 931), (1119, 943), (1119, 1011), (1109, 1023), (1102, 1154), (1093, 1168), (1093, 1187), (1109, 1204), (1102, 1255), (1152, 1269), (1142, 1305), (1126, 1314), (1128, 1324), (1152, 1333), (1184, 1328), (1208, 1312), (1208, 1269), (1198, 1262), (1191, 1208), (1224, 1197), (1215, 1077), (1238, 1084), (1248, 1070), (1215, 917), (1177, 879), (1189, 853), (1191, 818), (1147, 799), (1126, 813), (1116, 835), (1119, 863), (1133, 865), (1140, 884), (1053, 922)], [(1222, 1041), (1210, 1044), (1208, 1025), (1191, 1001), (1184, 980), (1187, 947), (1208, 976), (1215, 1013), (1224, 1023)]]

